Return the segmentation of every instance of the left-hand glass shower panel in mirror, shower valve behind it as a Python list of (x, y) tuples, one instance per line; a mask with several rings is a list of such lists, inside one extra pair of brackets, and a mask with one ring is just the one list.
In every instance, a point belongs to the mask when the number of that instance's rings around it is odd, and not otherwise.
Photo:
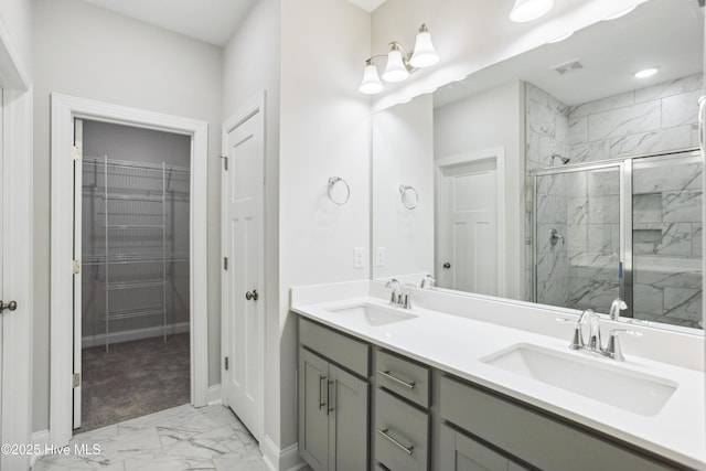
[(620, 165), (535, 178), (535, 300), (606, 311), (620, 293)]

